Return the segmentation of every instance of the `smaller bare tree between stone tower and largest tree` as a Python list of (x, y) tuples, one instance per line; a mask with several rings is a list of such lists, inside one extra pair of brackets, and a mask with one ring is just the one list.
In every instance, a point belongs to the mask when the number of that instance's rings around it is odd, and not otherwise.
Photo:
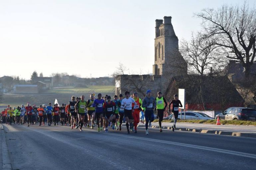
[(223, 67), (224, 61), (218, 55), (218, 47), (214, 37), (207, 37), (197, 32), (192, 33), (191, 40), (181, 41), (180, 52), (188, 64), (189, 70), (203, 76), (205, 73), (219, 70)]

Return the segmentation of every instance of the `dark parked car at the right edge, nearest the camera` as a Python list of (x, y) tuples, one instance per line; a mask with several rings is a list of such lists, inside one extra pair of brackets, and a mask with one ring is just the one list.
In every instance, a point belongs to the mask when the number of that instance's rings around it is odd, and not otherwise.
[(246, 107), (230, 107), (215, 116), (223, 120), (256, 120), (256, 110)]

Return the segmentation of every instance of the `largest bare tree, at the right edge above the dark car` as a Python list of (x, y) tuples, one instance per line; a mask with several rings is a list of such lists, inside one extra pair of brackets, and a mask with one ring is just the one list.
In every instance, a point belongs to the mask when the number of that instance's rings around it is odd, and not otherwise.
[(206, 34), (217, 38), (216, 45), (226, 51), (226, 57), (239, 61), (245, 69), (245, 78), (255, 63), (256, 10), (243, 6), (222, 5), (217, 10), (203, 9), (195, 14), (202, 19)]

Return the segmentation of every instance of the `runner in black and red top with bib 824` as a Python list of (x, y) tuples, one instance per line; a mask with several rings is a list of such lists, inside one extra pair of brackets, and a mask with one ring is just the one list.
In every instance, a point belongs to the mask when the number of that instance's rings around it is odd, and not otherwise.
[[(114, 108), (114, 109), (113, 109)], [(108, 132), (108, 125), (109, 122), (113, 123), (112, 129), (115, 129), (115, 111), (116, 111), (116, 105), (115, 102), (111, 101), (111, 97), (107, 96), (107, 102), (103, 105), (104, 109), (104, 131)]]

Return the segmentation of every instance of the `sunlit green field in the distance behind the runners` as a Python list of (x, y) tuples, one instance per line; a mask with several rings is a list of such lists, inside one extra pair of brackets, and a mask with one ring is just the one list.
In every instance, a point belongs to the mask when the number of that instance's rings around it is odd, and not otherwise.
[(59, 93), (59, 94), (72, 94), (72, 93), (113, 93), (115, 92), (115, 86), (103, 86), (103, 85), (89, 85), (87, 88), (74, 88), (74, 87), (58, 87), (48, 91), (48, 93)]

